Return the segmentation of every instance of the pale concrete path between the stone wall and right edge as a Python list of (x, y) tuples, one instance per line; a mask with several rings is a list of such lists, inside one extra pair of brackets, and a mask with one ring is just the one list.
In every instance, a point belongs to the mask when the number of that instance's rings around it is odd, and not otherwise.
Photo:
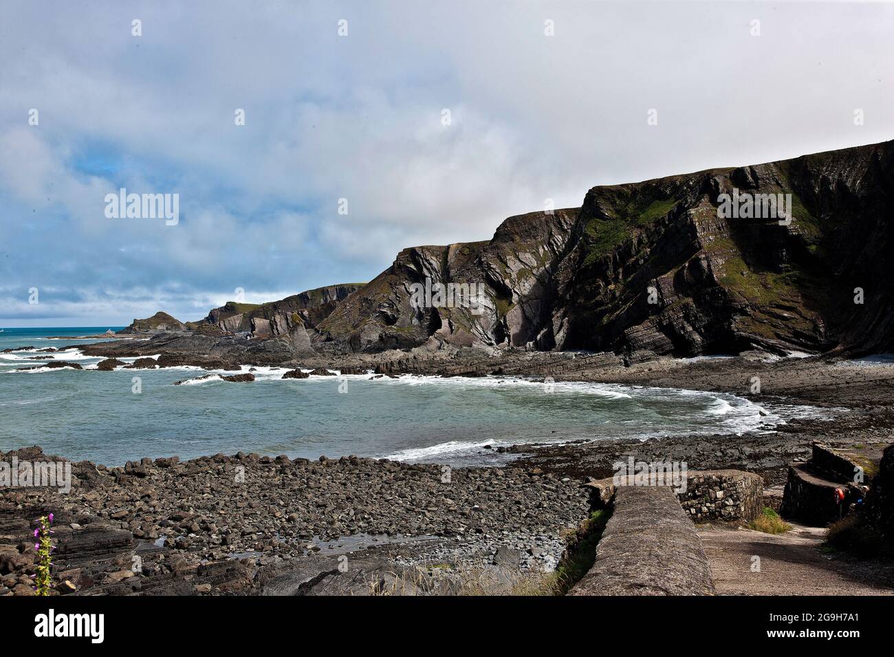
[[(699, 527), (714, 586), (721, 595), (892, 595), (892, 567), (831, 558), (819, 551), (825, 529), (794, 523), (782, 535)], [(759, 571), (753, 569), (759, 557)], [(880, 572), (881, 570), (881, 572)], [(880, 577), (881, 576), (881, 577)]]

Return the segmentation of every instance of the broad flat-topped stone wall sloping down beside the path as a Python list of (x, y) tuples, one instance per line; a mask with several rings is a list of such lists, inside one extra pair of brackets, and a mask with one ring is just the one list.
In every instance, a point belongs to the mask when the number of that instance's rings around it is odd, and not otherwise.
[(666, 486), (620, 486), (593, 568), (570, 595), (710, 595), (696, 527)]

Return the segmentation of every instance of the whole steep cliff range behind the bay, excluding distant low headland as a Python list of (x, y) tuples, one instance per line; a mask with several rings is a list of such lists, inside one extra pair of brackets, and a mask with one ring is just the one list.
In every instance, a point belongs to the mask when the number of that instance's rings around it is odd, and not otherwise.
[[(790, 194), (790, 221), (721, 217), (724, 194)], [(892, 215), (894, 142), (595, 187), (579, 209), (510, 217), (490, 241), (404, 249), (314, 339), (367, 351), (890, 351)], [(426, 278), (481, 283), (481, 307), (415, 307)]]

